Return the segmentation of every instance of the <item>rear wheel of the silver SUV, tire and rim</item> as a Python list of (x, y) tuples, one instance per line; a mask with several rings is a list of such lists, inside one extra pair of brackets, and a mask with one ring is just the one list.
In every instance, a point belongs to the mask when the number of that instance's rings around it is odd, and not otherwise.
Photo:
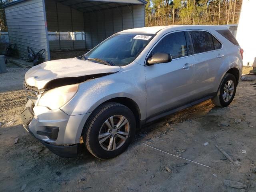
[(229, 73), (225, 74), (220, 83), (217, 95), (212, 98), (212, 103), (220, 107), (228, 106), (234, 99), (236, 86), (237, 82), (235, 76)]

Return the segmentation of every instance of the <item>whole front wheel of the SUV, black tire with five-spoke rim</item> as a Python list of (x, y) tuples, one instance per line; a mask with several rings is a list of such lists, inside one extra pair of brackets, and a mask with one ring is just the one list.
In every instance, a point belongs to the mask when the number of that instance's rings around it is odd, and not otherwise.
[(84, 133), (84, 143), (97, 158), (113, 158), (126, 150), (135, 130), (134, 114), (128, 107), (106, 103), (93, 112)]

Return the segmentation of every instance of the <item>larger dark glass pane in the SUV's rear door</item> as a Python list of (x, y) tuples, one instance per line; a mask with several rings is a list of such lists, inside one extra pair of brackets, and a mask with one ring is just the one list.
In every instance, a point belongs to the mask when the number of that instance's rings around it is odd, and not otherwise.
[(194, 54), (215, 50), (212, 34), (206, 31), (190, 31)]

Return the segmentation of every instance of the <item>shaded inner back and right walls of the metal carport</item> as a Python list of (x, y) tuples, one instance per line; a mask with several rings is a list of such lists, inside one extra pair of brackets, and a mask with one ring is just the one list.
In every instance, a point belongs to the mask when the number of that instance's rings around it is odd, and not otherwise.
[(50, 50), (91, 49), (116, 32), (129, 28), (144, 27), (145, 23), (144, 4), (129, 5), (129, 7), (121, 6), (87, 13), (80, 12), (61, 3), (56, 4), (55, 0), (45, 0), (45, 5), (48, 31), (85, 31), (85, 40), (49, 41)]

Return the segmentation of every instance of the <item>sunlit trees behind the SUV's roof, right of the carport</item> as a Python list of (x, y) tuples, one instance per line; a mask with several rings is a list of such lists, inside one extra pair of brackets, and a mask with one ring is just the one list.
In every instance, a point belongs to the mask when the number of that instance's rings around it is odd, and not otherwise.
[(147, 2), (146, 26), (237, 23), (242, 4), (242, 0), (147, 0)]

